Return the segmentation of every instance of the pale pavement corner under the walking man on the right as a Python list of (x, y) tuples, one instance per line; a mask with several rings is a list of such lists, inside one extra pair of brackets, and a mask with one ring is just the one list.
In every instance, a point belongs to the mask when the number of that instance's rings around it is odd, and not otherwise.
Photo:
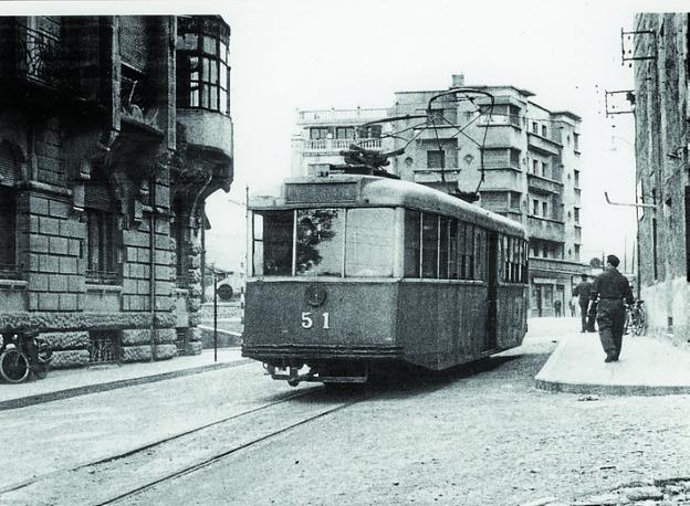
[[(534, 320), (534, 325), (543, 324)], [(536, 375), (536, 387), (624, 396), (690, 393), (690, 352), (670, 342), (627, 335), (620, 360), (605, 363), (604, 358), (598, 333), (564, 335)]]

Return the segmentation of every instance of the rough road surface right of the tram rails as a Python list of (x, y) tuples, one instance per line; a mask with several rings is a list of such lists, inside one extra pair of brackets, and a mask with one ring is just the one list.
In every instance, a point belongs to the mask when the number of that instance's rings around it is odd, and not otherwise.
[(364, 402), (132, 504), (617, 504), (586, 498), (690, 476), (688, 396), (536, 390), (555, 344), (525, 342), (471, 375), (375, 384)]

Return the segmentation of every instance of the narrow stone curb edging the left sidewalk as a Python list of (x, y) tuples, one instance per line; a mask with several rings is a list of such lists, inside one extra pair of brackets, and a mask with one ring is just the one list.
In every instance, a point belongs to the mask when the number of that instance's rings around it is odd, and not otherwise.
[(231, 362), (211, 363), (209, 366), (199, 366), (189, 369), (179, 369), (176, 371), (160, 372), (158, 375), (143, 376), (139, 378), (129, 378), (125, 380), (108, 381), (105, 383), (85, 384), (83, 387), (56, 390), (53, 392), (38, 393), (35, 396), (20, 397), (17, 399), (8, 399), (0, 401), (0, 411), (27, 408), (29, 405), (42, 404), (45, 402), (60, 401), (73, 397), (87, 396), (90, 393), (107, 392), (118, 388), (135, 387), (137, 384), (154, 383), (174, 378), (182, 378), (185, 376), (198, 375), (200, 372), (212, 371), (217, 369), (231, 368), (242, 366), (253, 361), (252, 359), (240, 359)]

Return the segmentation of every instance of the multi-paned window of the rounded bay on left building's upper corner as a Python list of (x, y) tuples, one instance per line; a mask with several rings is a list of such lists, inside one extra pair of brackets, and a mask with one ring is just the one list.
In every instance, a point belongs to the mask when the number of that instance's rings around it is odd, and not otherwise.
[(230, 28), (220, 17), (178, 18), (178, 107), (230, 114), (229, 40)]

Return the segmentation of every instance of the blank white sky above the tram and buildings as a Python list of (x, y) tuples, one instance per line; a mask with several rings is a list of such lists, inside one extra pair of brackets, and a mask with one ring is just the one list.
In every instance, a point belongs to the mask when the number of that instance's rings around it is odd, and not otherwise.
[(290, 175), (297, 109), (388, 107), (397, 91), (510, 84), (581, 125), (581, 259), (631, 264), (632, 115), (606, 116), (606, 91), (632, 88), (620, 31), (639, 11), (690, 11), (679, 1), (226, 0), (2, 2), (2, 13), (217, 13), (231, 28), (234, 182), (207, 201), (209, 259), (243, 262), (250, 194), (275, 194)]

